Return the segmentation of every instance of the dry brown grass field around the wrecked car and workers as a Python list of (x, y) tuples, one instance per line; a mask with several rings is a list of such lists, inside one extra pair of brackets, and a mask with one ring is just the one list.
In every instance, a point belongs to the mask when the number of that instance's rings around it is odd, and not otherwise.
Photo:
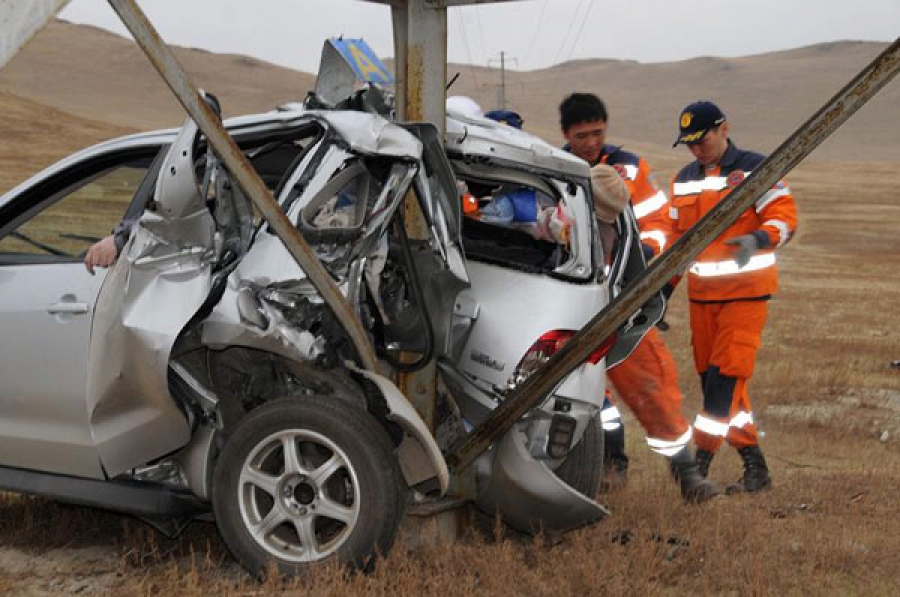
[[(0, 113), (0, 192), (77, 148), (141, 126), (72, 116), (8, 92), (0, 92)], [(735, 136), (740, 142), (740, 129)], [(865, 138), (854, 143), (855, 152)], [(660, 144), (635, 147), (661, 178), (686, 159)], [(411, 551), (401, 539), (368, 575), (325, 567), (264, 583), (243, 574), (209, 523), (171, 541), (127, 517), (6, 494), (0, 594), (900, 593), (900, 370), (889, 367), (900, 359), (892, 321), (900, 304), (900, 163), (814, 161), (789, 181), (800, 229), (779, 254), (782, 290), (751, 386), (771, 491), (685, 505), (629, 420), (630, 479), (600, 496), (612, 516), (597, 525), (550, 542), (488, 523), (453, 545)], [(683, 291), (668, 320), (692, 417), (700, 401)], [(726, 449), (711, 476), (728, 482), (739, 468)]]

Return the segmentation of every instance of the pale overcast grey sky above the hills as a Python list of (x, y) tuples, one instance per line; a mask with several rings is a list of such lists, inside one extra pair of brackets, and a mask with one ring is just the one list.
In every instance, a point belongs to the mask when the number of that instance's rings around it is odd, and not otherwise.
[[(315, 72), (322, 42), (362, 37), (393, 55), (390, 10), (362, 0), (139, 0), (169, 42)], [(106, 0), (60, 13), (125, 34)], [(893, 41), (900, 0), (521, 0), (450, 9), (452, 62), (531, 70), (577, 58), (665, 62), (833, 40)]]

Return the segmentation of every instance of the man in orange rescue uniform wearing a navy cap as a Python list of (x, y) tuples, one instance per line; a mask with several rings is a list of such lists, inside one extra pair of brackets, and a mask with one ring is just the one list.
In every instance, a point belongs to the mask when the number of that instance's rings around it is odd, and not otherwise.
[[(667, 239), (675, 242), (726, 197), (764, 156), (739, 149), (729, 123), (708, 101), (688, 105), (675, 145), (696, 158), (672, 181)], [(722, 443), (741, 455), (744, 473), (728, 493), (772, 484), (759, 448), (747, 385), (766, 322), (768, 300), (778, 290), (775, 249), (797, 228), (791, 190), (779, 182), (698, 256), (687, 272), (691, 344), (703, 387), (703, 410), (694, 422), (697, 461), (704, 475)]]

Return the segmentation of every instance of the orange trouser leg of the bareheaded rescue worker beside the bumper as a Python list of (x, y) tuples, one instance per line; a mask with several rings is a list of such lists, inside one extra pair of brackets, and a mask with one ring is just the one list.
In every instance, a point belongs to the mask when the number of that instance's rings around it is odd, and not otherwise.
[(634, 352), (606, 375), (648, 438), (673, 441), (687, 432), (675, 359), (656, 327), (651, 327)]

